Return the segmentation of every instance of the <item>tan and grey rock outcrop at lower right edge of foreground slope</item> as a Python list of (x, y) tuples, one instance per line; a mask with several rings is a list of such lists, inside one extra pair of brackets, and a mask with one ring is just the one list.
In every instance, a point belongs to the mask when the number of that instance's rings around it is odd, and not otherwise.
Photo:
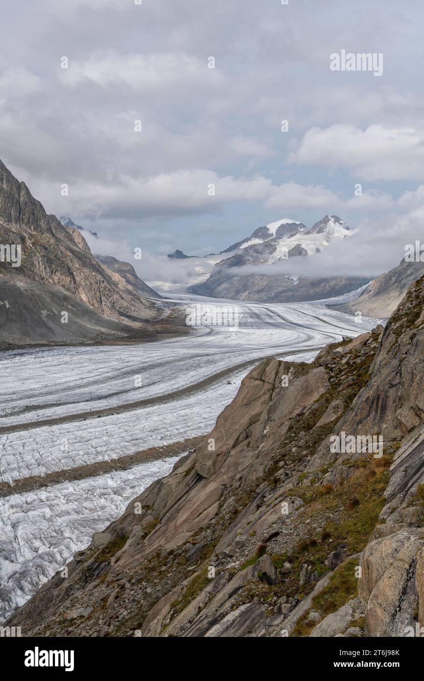
[(424, 484), (423, 441), (424, 426), (418, 426), (397, 450), (380, 513), (385, 524), (376, 526), (363, 553), (359, 596), (372, 636), (408, 635), (417, 605), (423, 626), (423, 508), (416, 498)]

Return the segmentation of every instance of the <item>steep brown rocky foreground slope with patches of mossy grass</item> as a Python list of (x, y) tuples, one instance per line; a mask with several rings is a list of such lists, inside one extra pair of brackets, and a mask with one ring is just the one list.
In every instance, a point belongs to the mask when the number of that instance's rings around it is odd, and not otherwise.
[[(423, 287), (384, 332), (312, 364), (269, 358), (250, 371), (204, 443), (7, 624), (23, 635), (405, 635), (424, 612)], [(331, 454), (342, 429), (382, 430), (384, 456)]]

